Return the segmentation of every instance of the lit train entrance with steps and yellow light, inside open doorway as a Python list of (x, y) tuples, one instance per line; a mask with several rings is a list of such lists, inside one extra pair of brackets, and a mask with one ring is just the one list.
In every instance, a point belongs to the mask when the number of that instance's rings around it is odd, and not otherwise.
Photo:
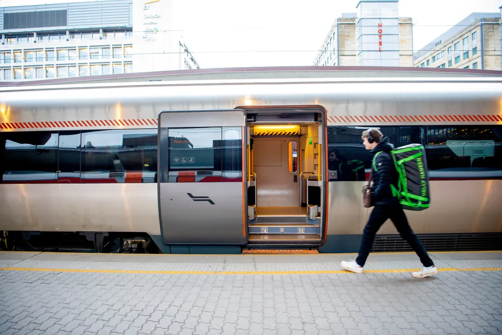
[(323, 125), (318, 116), (248, 113), (250, 245), (321, 241)]

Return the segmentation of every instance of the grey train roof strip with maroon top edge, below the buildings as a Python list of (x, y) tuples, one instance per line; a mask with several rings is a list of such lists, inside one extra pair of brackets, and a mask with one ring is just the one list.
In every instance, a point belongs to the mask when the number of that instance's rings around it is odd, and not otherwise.
[(110, 75), (97, 75), (74, 78), (55, 78), (23, 82), (0, 82), (2, 87), (22, 88), (46, 85), (106, 85), (145, 82), (171, 82), (171, 81), (232, 81), (232, 80), (287, 80), (287, 79), (349, 79), (374, 78), (402, 78), (413, 81), (426, 80), (427, 78), (465, 78), (467, 80), (502, 80), (502, 71), (474, 70), (474, 69), (448, 69), (448, 68), (416, 68), (416, 67), (343, 67), (343, 66), (298, 66), (298, 67), (244, 67), (244, 68), (215, 68), (177, 71), (137, 72)]

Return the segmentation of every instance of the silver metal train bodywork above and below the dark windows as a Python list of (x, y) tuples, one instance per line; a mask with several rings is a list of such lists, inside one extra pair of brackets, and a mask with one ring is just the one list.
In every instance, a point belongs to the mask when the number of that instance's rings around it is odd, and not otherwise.
[[(246, 106), (322, 106), (327, 126), (502, 125), (499, 78), (264, 76), (4, 87), (0, 131), (157, 128), (163, 111)], [(363, 184), (329, 183), (327, 235), (362, 232), (370, 213), (361, 206)], [(431, 181), (431, 194), (430, 209), (407, 212), (416, 233), (502, 232), (502, 180)], [(157, 184), (2, 184), (0, 230), (159, 235)], [(396, 231), (384, 225), (379, 233)]]

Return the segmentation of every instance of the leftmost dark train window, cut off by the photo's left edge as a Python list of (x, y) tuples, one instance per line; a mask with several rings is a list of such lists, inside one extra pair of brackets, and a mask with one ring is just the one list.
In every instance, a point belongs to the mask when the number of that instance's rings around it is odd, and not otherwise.
[(57, 183), (57, 132), (0, 134), (3, 183)]

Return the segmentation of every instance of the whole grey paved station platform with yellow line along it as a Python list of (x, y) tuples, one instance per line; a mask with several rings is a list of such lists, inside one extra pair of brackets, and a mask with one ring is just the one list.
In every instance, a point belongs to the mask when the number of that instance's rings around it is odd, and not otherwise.
[(502, 251), (0, 252), (0, 334), (502, 334)]

